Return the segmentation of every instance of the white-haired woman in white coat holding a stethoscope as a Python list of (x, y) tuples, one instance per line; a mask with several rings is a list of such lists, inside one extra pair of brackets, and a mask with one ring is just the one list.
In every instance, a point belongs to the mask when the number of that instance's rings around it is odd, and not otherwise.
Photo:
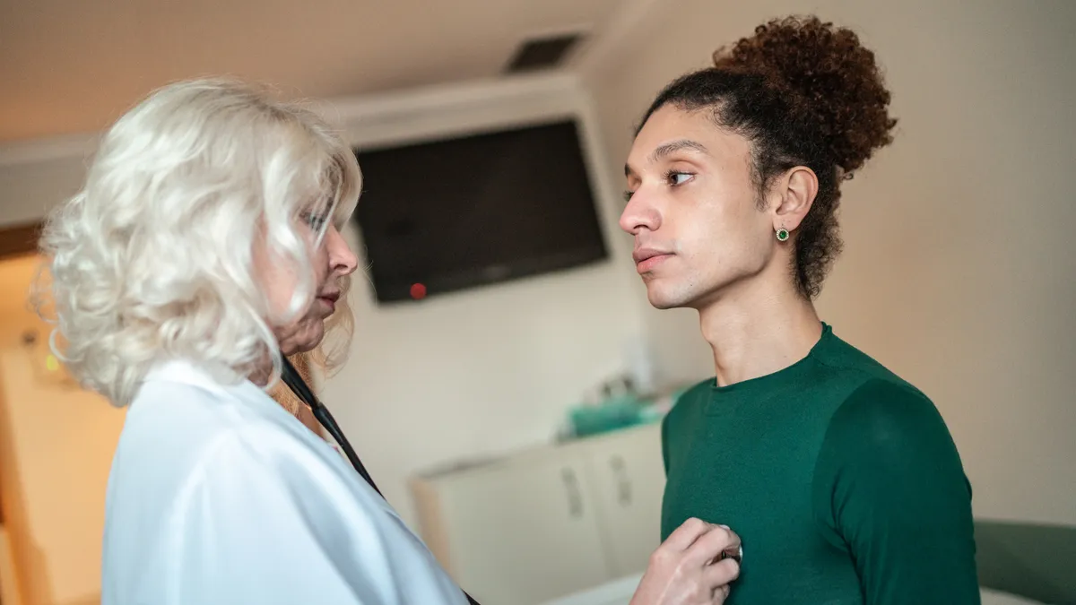
[[(267, 394), (283, 356), (318, 361), (327, 323), (350, 337), (337, 305), (357, 262), (340, 229), (359, 188), (354, 154), (313, 113), (241, 83), (181, 82), (116, 122), (46, 222), (39, 298), (55, 308), (54, 348), (128, 407), (102, 604), (467, 602), (378, 492)], [(728, 534), (685, 526), (637, 603), (711, 602), (704, 572)]]

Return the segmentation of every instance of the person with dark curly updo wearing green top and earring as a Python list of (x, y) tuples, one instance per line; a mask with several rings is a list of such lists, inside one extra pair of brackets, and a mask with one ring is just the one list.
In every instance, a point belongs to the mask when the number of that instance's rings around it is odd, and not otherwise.
[(663, 425), (663, 535), (745, 549), (728, 603), (979, 602), (971, 486), (934, 404), (820, 321), (840, 184), (892, 141), (874, 53), (773, 20), (669, 84), (625, 167), (650, 302), (693, 308), (716, 377)]

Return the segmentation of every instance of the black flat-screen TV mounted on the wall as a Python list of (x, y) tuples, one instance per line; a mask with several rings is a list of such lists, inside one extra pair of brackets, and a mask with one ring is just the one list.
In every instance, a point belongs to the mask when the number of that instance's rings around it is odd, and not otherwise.
[(381, 302), (608, 257), (574, 121), (355, 153)]

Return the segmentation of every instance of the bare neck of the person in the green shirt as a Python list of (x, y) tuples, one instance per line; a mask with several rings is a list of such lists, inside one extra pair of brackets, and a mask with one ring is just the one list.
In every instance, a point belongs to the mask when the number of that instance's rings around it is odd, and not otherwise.
[(822, 335), (815, 306), (789, 280), (752, 281), (698, 310), (720, 386), (791, 366), (806, 357)]

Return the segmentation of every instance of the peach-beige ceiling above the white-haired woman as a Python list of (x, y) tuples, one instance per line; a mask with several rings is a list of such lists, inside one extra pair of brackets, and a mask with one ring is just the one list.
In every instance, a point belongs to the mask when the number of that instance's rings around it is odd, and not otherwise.
[[(170, 81), (338, 98), (498, 74), (631, 0), (0, 0), (0, 141), (103, 129)], [(584, 50), (585, 51), (585, 50)]]

